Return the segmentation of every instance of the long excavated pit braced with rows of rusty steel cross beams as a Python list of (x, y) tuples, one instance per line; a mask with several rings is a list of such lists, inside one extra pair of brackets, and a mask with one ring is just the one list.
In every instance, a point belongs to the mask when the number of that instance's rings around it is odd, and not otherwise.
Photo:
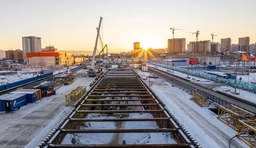
[[(139, 114), (141, 116), (138, 116), (139, 118), (132, 118), (131, 114)], [(145, 114), (150, 114), (152, 117), (143, 118)], [(99, 115), (104, 117), (111, 116), (111, 118), (99, 118)], [(97, 118), (92, 118), (94, 116)], [(145, 126), (134, 127), (135, 129), (88, 128), (96, 122), (101, 122), (101, 125), (110, 122), (114, 122), (115, 125), (118, 123), (142, 124), (143, 122), (154, 122), (157, 128)], [(89, 126), (84, 128), (84, 125), (88, 123)], [(105, 72), (99, 78), (98, 82), (91, 87), (89, 92), (74, 104), (74, 108), (48, 135), (48, 138), (41, 142), (42, 146), (40, 147), (195, 148), (196, 144), (189, 140), (189, 134), (184, 133), (184, 131), (184, 127), (165, 108), (165, 104), (157, 98), (135, 71), (115, 69)], [(188, 133), (188, 131), (186, 132)], [(86, 138), (83, 135), (88, 133), (113, 133), (113, 135), (160, 133), (160, 135), (166, 134), (166, 137), (171, 137), (174, 142), (166, 144), (137, 144), (135, 142), (131, 144), (129, 139), (122, 139), (122, 136), (117, 136), (117, 139), (121, 138), (121, 141), (126, 140), (128, 142), (126, 145), (120, 144), (117, 141), (102, 144), (100, 139), (103, 137), (96, 138), (98, 144), (82, 142), (81, 138)], [(115, 139), (115, 136), (113, 138)], [(93, 139), (95, 140), (95, 138)], [(65, 141), (69, 141), (68, 144)]]

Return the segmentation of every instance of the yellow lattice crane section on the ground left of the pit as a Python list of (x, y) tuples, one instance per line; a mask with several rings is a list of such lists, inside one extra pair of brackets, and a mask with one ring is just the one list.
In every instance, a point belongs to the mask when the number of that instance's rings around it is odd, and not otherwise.
[(66, 106), (73, 105), (77, 100), (81, 98), (86, 92), (86, 86), (77, 86), (72, 91), (68, 92), (66, 96)]

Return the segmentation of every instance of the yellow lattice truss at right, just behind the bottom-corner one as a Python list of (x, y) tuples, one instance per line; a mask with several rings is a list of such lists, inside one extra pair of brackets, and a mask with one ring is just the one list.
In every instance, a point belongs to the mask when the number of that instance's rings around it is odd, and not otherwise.
[(255, 114), (235, 105), (218, 105), (218, 119), (238, 131), (238, 120), (254, 120)]

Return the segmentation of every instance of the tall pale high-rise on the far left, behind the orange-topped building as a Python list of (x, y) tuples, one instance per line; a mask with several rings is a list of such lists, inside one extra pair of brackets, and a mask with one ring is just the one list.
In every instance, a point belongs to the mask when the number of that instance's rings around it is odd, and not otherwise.
[(35, 36), (22, 37), (23, 57), (26, 58), (26, 53), (42, 52), (41, 38)]

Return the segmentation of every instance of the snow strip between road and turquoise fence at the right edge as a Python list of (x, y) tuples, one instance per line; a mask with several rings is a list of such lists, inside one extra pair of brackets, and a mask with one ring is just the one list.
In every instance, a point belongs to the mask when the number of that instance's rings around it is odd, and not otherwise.
[[(235, 88), (233, 87), (230, 87), (230, 86), (219, 86), (219, 87), (214, 87), (212, 90), (213, 91), (222, 91), (222, 90), (230, 90), (230, 91), (235, 91)], [(238, 98), (241, 98), (241, 99), (244, 99), (244, 100), (247, 100), (247, 101), (250, 101), (250, 102), (253, 102), (253, 103), (256, 103), (256, 94), (255, 93), (252, 93), (252, 92), (249, 92), (249, 91), (246, 91), (246, 90), (240, 90), (239, 88), (237, 88), (236, 92), (240, 92), (239, 95), (235, 95), (235, 94), (232, 94), (230, 92), (225, 92), (225, 93), (228, 93), (230, 95), (233, 95), (233, 96), (236, 96)]]

